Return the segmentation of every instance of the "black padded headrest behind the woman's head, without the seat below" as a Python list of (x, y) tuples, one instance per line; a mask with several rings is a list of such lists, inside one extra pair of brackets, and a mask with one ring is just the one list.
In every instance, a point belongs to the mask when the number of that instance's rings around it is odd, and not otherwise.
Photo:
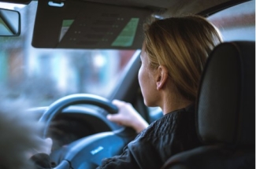
[(255, 144), (255, 42), (224, 42), (210, 53), (196, 123), (206, 144)]

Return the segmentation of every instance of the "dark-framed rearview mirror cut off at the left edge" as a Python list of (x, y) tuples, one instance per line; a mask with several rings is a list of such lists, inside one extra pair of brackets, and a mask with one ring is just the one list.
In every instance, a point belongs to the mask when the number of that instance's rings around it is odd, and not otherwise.
[(0, 36), (20, 35), (20, 13), (15, 10), (0, 9)]

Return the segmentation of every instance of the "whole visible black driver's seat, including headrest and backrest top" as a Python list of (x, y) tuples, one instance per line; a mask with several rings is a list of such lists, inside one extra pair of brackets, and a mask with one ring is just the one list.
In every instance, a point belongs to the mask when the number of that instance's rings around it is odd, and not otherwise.
[(161, 169), (255, 168), (255, 42), (224, 42), (210, 53), (195, 111), (203, 145)]

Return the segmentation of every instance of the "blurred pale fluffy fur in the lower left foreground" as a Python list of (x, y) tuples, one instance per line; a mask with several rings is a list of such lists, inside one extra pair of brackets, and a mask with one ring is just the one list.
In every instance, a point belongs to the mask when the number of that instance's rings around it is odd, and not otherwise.
[(29, 157), (46, 146), (40, 138), (43, 124), (25, 111), (27, 101), (0, 100), (0, 168), (32, 169), (35, 166)]

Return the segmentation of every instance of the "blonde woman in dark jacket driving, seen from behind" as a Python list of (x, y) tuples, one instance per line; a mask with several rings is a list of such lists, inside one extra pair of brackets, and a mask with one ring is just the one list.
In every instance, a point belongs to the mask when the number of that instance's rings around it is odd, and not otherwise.
[(145, 105), (159, 106), (164, 116), (147, 127), (132, 105), (113, 101), (120, 112), (108, 119), (133, 127), (139, 134), (121, 156), (102, 160), (98, 169), (160, 168), (170, 156), (200, 145), (194, 102), (206, 57), (220, 42), (213, 25), (198, 16), (145, 24), (139, 85)]

